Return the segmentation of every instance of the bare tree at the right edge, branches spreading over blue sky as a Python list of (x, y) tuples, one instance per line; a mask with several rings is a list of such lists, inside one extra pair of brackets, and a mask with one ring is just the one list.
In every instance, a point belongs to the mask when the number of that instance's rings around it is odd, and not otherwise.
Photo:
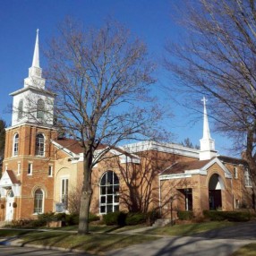
[(184, 86), (181, 88), (187, 96), (207, 96), (218, 131), (234, 140), (234, 149), (245, 152), (255, 194), (255, 1), (200, 0), (186, 4), (179, 17), (183, 17), (188, 34), (179, 45), (170, 42), (166, 47), (166, 68)]

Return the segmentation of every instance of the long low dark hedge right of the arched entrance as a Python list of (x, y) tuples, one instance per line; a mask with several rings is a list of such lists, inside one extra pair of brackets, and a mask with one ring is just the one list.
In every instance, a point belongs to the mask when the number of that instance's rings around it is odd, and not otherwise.
[(250, 212), (243, 211), (203, 210), (203, 215), (210, 220), (228, 220), (235, 222), (249, 221), (252, 217)]

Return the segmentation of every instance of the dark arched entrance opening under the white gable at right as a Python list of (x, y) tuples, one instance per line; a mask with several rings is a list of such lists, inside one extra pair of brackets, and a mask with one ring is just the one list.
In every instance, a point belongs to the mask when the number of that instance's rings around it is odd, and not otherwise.
[(222, 208), (221, 190), (224, 190), (224, 183), (217, 174), (209, 179), (209, 209)]

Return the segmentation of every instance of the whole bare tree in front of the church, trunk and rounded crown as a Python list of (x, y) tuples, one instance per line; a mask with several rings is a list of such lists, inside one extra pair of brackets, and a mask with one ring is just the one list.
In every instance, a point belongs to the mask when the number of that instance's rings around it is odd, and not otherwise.
[[(162, 113), (149, 97), (154, 65), (141, 40), (114, 21), (98, 30), (65, 21), (47, 60), (49, 89), (56, 94), (55, 115), (83, 148), (78, 233), (85, 235), (93, 166), (121, 141), (158, 135), (156, 122)], [(103, 144), (107, 147), (97, 150)]]

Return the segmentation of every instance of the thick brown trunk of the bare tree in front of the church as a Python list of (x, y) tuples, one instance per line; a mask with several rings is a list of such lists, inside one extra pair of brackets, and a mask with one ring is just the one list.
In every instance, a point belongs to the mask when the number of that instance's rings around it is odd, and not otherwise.
[(81, 207), (79, 214), (79, 226), (78, 234), (89, 234), (89, 213), (90, 213), (90, 201), (92, 196), (91, 187), (91, 166), (93, 152), (84, 152), (83, 161), (83, 185), (81, 190)]

